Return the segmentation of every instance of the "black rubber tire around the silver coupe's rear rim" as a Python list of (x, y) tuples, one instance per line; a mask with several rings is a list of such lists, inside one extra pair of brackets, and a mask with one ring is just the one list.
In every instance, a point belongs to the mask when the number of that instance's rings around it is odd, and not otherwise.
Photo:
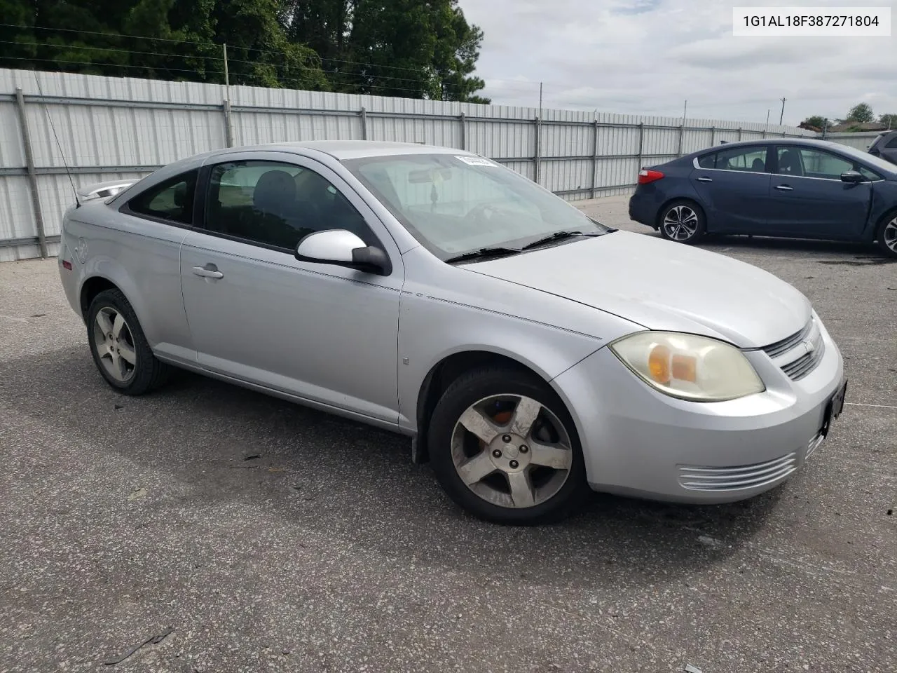
[[(133, 348), (133, 364), (127, 363), (129, 375), (124, 380), (116, 378), (110, 373), (110, 361), (106, 361), (105, 355), (100, 355), (98, 350), (99, 323), (97, 316), (100, 311), (120, 314), (124, 319), (127, 335), (124, 330), (120, 333), (122, 347)], [(129, 335), (129, 337), (128, 337)], [(105, 290), (93, 298), (90, 308), (87, 310), (87, 341), (91, 346), (93, 363), (97, 366), (102, 377), (113, 389), (125, 395), (143, 395), (152, 389), (161, 386), (170, 375), (171, 368), (168, 364), (161, 363), (152, 354), (152, 349), (146, 341), (144, 330), (131, 304), (125, 295), (118, 290)], [(118, 357), (122, 357), (120, 354)]]

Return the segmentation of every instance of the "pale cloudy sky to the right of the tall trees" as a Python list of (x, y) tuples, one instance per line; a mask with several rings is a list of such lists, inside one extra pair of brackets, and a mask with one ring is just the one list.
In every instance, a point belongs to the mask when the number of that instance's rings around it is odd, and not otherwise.
[[(897, 3), (884, 0), (460, 0), (476, 74), (501, 105), (797, 125), (858, 102), (897, 114)], [(892, 37), (734, 37), (736, 6), (891, 6)]]

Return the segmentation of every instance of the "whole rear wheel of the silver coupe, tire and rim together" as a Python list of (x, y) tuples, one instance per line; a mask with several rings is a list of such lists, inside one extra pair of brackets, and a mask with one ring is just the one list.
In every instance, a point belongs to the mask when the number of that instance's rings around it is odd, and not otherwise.
[(126, 395), (143, 395), (170, 372), (169, 365), (152, 354), (134, 309), (118, 290), (93, 298), (87, 310), (87, 340), (102, 377)]

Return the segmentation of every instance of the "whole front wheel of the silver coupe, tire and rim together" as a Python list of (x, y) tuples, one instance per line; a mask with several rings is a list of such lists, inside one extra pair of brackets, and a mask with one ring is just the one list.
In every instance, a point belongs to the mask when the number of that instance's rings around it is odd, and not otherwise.
[(569, 413), (526, 372), (486, 368), (462, 375), (440, 398), (428, 440), (440, 485), (481, 519), (560, 520), (588, 494)]

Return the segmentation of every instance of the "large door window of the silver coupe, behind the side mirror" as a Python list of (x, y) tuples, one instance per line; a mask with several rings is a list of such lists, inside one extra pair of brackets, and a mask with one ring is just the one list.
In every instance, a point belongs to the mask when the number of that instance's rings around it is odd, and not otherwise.
[(229, 162), (212, 169), (205, 228), (295, 249), (309, 233), (347, 229), (377, 243), (354, 206), (314, 170), (280, 162)]

